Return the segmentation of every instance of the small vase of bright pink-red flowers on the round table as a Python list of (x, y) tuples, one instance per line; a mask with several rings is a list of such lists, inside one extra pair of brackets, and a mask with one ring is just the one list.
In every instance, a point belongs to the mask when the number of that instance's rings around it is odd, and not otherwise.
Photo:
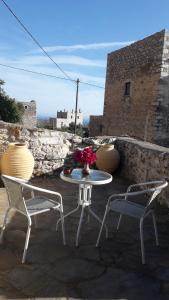
[(75, 160), (84, 165), (82, 173), (84, 175), (90, 174), (90, 165), (96, 161), (96, 154), (91, 147), (86, 147), (83, 150), (76, 150)]

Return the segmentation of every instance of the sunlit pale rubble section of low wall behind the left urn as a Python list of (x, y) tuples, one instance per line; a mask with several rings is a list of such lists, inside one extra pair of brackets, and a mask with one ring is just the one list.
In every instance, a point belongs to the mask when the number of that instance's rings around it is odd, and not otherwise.
[[(10, 142), (26, 142), (35, 159), (33, 175), (52, 173), (63, 165), (73, 134), (48, 129), (26, 129), (0, 121), (0, 155)], [(81, 142), (76, 137), (76, 142)]]

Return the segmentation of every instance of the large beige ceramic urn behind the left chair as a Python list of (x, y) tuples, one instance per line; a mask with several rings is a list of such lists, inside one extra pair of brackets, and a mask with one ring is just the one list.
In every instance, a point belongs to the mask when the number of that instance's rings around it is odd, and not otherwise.
[(32, 153), (24, 143), (11, 143), (1, 157), (1, 174), (29, 180), (34, 168)]

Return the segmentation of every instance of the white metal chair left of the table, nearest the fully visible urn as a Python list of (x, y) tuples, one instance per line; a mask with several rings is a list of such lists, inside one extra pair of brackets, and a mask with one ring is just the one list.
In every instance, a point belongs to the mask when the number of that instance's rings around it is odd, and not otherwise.
[[(63, 243), (65, 245), (66, 240), (65, 240), (65, 231), (64, 231), (63, 204), (62, 204), (61, 194), (27, 184), (25, 183), (24, 180), (19, 178), (7, 176), (7, 175), (2, 175), (1, 178), (4, 182), (8, 194), (9, 207), (6, 211), (3, 226), (1, 229), (0, 242), (2, 242), (3, 240), (3, 233), (6, 227), (9, 211), (11, 209), (14, 209), (19, 213), (23, 214), (24, 216), (26, 216), (28, 220), (28, 228), (27, 228), (25, 246), (24, 246), (24, 251), (22, 256), (22, 263), (24, 263), (26, 259), (26, 253), (28, 249), (30, 232), (31, 232), (31, 225), (32, 225), (31, 217), (48, 212), (50, 210), (57, 210), (60, 213), (60, 219), (62, 223)], [(30, 190), (31, 197), (29, 199), (24, 198), (23, 189)], [(38, 192), (38, 195), (35, 195), (35, 192)], [(56, 196), (57, 201), (49, 199), (43, 195), (39, 195), (41, 193), (54, 195)]]

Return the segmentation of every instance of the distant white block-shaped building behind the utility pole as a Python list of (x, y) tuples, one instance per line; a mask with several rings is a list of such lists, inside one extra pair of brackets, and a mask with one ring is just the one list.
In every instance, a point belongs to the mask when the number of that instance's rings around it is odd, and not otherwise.
[[(49, 124), (52, 129), (69, 127), (69, 124), (75, 122), (75, 111), (57, 111), (56, 118), (50, 118)], [(77, 112), (77, 125), (83, 124), (83, 114), (79, 111)]]

